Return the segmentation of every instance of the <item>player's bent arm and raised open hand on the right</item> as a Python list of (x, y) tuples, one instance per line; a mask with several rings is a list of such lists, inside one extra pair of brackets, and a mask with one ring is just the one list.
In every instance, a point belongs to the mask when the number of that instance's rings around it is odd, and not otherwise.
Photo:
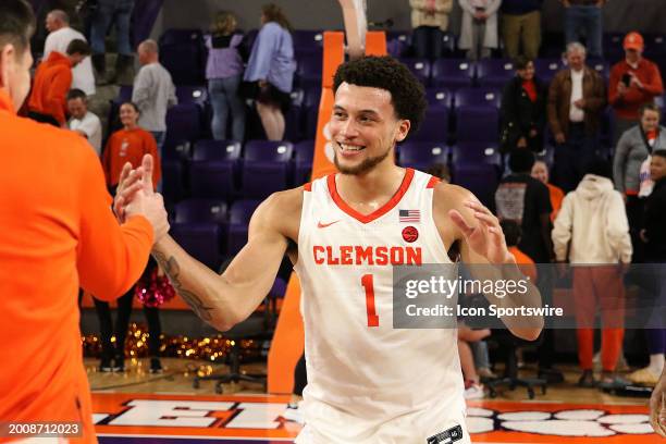
[[(471, 267), (474, 279), (515, 282), (523, 279), (508, 251), (499, 221), (473, 194), (455, 185), (437, 185), (434, 199), (434, 213), (439, 219), (435, 222), (445, 243), (446, 239), (449, 245), (460, 240), (460, 256), (466, 264), (488, 266)], [(485, 296), (499, 308), (540, 308), (539, 289), (531, 283), (527, 287), (526, 293), (507, 293), (501, 298)], [(540, 316), (503, 317), (502, 320), (513, 334), (528, 341), (535, 340), (543, 329)]]

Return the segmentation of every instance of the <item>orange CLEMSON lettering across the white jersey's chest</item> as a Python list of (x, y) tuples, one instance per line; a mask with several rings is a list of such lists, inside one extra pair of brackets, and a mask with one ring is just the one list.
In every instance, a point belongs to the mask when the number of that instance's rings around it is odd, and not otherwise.
[(312, 257), (318, 266), (420, 266), (421, 247), (362, 247), (314, 245)]

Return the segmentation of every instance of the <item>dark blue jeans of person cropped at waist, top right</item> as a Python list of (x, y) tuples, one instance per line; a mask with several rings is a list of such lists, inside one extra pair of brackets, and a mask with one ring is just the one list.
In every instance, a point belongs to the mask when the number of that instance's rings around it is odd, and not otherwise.
[(565, 38), (567, 44), (581, 41), (585, 35), (589, 58), (603, 57), (602, 51), (602, 9), (594, 5), (571, 5), (565, 9)]

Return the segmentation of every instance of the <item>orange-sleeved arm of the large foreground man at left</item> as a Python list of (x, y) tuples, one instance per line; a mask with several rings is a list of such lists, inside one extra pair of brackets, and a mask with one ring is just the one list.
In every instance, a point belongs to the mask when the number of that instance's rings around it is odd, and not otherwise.
[(119, 225), (111, 211), (112, 200), (99, 161), (89, 147), (84, 148), (82, 182), (76, 188), (82, 217), (78, 275), (83, 288), (99, 299), (111, 300), (140, 278), (152, 247), (153, 230), (141, 215), (131, 217)]

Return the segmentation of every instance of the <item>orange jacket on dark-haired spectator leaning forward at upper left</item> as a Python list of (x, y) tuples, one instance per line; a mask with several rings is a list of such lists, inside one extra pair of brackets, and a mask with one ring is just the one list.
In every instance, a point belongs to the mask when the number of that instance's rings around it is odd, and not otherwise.
[(72, 87), (72, 62), (60, 52), (51, 52), (37, 66), (28, 109), (52, 115), (61, 125), (66, 123), (67, 92)]

